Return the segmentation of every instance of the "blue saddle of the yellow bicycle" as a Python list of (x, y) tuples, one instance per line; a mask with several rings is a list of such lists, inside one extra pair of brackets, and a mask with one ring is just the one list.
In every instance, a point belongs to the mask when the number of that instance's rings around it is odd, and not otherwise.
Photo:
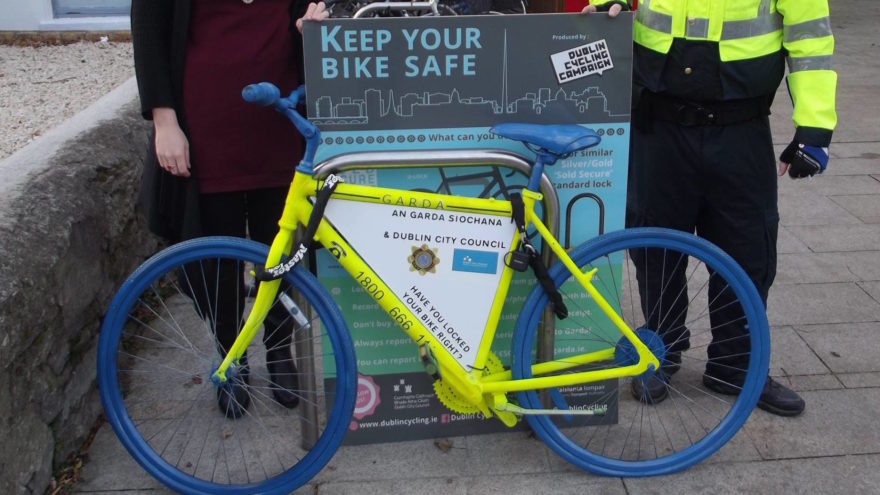
[(592, 129), (575, 124), (498, 124), (489, 132), (508, 139), (522, 141), (542, 148), (554, 155), (568, 155), (596, 146), (602, 138)]

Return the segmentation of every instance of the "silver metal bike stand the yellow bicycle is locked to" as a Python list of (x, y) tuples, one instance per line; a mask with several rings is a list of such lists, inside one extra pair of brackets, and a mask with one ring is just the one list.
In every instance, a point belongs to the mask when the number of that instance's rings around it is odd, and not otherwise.
[[(498, 166), (517, 170), (526, 177), (531, 172), (532, 162), (515, 153), (493, 149), (473, 150), (418, 150), (418, 151), (365, 151), (360, 153), (348, 153), (325, 160), (314, 167), (314, 177), (323, 179), (331, 173), (345, 172), (347, 170), (360, 169), (385, 169), (385, 168), (437, 168), (437, 167), (473, 167), (473, 166)], [(547, 175), (541, 177), (539, 186), (544, 195), (544, 224), (555, 237), (559, 231), (559, 197), (556, 189)], [(549, 249), (543, 249), (542, 256), (547, 266), (553, 259)], [(551, 316), (553, 312), (549, 313)], [(553, 330), (554, 319), (545, 317), (541, 325), (541, 343), (538, 346), (539, 357), (549, 357), (553, 353)], [(313, 330), (310, 330), (313, 332)], [(304, 341), (305, 340), (305, 341)], [(304, 386), (310, 387), (303, 390), (305, 397), (314, 397), (316, 400), (301, 401), (303, 408), (302, 433), (303, 448), (310, 448), (318, 438), (318, 408), (317, 408), (317, 382), (315, 380), (314, 349), (309, 338), (300, 339), (296, 345), (297, 357), (301, 359), (304, 367), (301, 373), (308, 376)], [(306, 363), (310, 367), (305, 368)], [(309, 439), (307, 441), (307, 439)]]

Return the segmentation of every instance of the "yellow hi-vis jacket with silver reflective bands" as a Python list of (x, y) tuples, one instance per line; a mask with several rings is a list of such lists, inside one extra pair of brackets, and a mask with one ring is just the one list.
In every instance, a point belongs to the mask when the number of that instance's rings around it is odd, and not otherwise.
[[(782, 75), (766, 69), (778, 61), (781, 72), (785, 60), (795, 126), (827, 130), (830, 139), (837, 124), (837, 74), (831, 69), (834, 37), (828, 12), (828, 0), (639, 0), (633, 27), (635, 64), (640, 63), (640, 53), (666, 55), (675, 38), (717, 42), (720, 76), (733, 81), (723, 84), (731, 88), (724, 98), (733, 99), (756, 96), (736, 89), (742, 81), (745, 84), (739, 86), (749, 86), (753, 93), (772, 94)], [(657, 65), (644, 65), (649, 69), (641, 70), (651, 89), (650, 72), (659, 78), (651, 67)], [(640, 68), (634, 70), (638, 73)]]

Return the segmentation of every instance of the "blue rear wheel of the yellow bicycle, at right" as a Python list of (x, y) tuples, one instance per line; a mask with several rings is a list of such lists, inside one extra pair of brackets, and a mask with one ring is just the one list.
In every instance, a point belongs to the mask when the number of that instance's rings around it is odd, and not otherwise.
[[(705, 240), (658, 228), (599, 236), (570, 255), (584, 273), (595, 270), (598, 292), (661, 368), (519, 393), (521, 407), (555, 410), (526, 416), (538, 437), (572, 464), (608, 476), (679, 471), (731, 440), (757, 403), (770, 355), (764, 305), (745, 272)], [(545, 312), (540, 287), (532, 292), (514, 333), (514, 377), (635, 363), (632, 345), (570, 272), (557, 263), (550, 276), (569, 316), (555, 319), (551, 338), (539, 335), (553, 312)], [(604, 354), (590, 364), (571, 359), (564, 370), (533, 368), (588, 352)]]

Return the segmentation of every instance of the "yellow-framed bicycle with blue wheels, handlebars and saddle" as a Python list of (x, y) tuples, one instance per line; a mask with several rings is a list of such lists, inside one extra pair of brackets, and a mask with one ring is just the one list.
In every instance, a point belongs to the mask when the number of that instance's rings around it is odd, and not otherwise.
[[(300, 263), (313, 243), (332, 253), (418, 345), (447, 407), (508, 426), (525, 418), (554, 452), (590, 472), (648, 476), (685, 469), (730, 440), (752, 411), (768, 368), (768, 327), (757, 291), (730, 257), (691, 234), (656, 228), (607, 233), (566, 251), (534, 213), (544, 167), (597, 144), (593, 131), (495, 126), (492, 132), (534, 151), (528, 186), (511, 201), (469, 198), (315, 177), (320, 133), (296, 112), (304, 89), (284, 98), (261, 83), (243, 95), (283, 113), (307, 142), (271, 247), (212, 237), (166, 248), (124, 282), (101, 330), (98, 382), (108, 422), (135, 460), (171, 489), (288, 493), (306, 484), (339, 448), (355, 409), (356, 360), (336, 303)], [(424, 287), (451, 264), (449, 251), (416, 245), (410, 251), (404, 244), (406, 252), (392, 256), (380, 246), (377, 258), (370, 243), (350, 231), (340, 234), (337, 223), (369, 227), (370, 212), (382, 208), (485, 220), (489, 226), (481, 228), (506, 238), (509, 245), (496, 251), (500, 276), (491, 282), (491, 304), (467, 308), (468, 314), (487, 315), (481, 332), (468, 340), (426, 319), (425, 301), (412, 291), (400, 293), (398, 275), (380, 269), (388, 260), (409, 263), (404, 281)], [(537, 248), (526, 226), (537, 230), (558, 261), (543, 275), (535, 270), (540, 283), (523, 305), (508, 367), (490, 347), (514, 271), (535, 266)], [(303, 227), (294, 242), (295, 230)], [(364, 232), (373, 232), (367, 227)], [(361, 246), (371, 253), (369, 263)], [(224, 309), (217, 304), (218, 280), (230, 273), (234, 283), (224, 287), (237, 304), (226, 311), (242, 330), (221, 356), (212, 325)], [(479, 276), (468, 280), (478, 283)], [(246, 288), (251, 283), (252, 302)], [(711, 297), (704, 298), (707, 292)], [(285, 321), (277, 318), (279, 308)], [(737, 322), (744, 351), (719, 355), (718, 343), (709, 345), (711, 333)], [(556, 339), (553, 352), (538, 349), (547, 337), (538, 335), (542, 326)], [(262, 353), (251, 345), (261, 331), (278, 328), (292, 331), (296, 347), (302, 388), (296, 409), (271, 399)], [(736, 366), (742, 384), (726, 385), (737, 387), (738, 395), (701, 385), (706, 365)], [(665, 380), (669, 397), (654, 403), (645, 386), (667, 376), (674, 377)], [(234, 383), (250, 398), (239, 419), (218, 413), (215, 400), (217, 390)], [(592, 397), (597, 390), (600, 396)], [(292, 421), (298, 416), (299, 423)]]

